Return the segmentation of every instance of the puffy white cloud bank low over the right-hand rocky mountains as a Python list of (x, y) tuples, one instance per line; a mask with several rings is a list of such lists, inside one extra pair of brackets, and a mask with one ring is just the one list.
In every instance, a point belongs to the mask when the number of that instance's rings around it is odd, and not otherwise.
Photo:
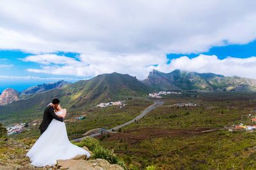
[(218, 59), (216, 55), (199, 55), (193, 59), (180, 57), (173, 59), (170, 66), (163, 68), (163, 71), (173, 71), (182, 69), (186, 71), (196, 71), (198, 73), (216, 73), (225, 76), (241, 76), (256, 79), (256, 57), (239, 59), (228, 57)]

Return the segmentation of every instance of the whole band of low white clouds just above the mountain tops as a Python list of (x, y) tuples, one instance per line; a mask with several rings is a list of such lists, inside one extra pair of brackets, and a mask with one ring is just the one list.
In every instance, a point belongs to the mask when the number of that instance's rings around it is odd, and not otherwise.
[[(55, 59), (53, 62), (52, 59)], [(73, 76), (96, 76), (103, 73), (124, 73), (144, 79), (152, 69), (169, 73), (175, 69), (196, 71), (199, 73), (216, 73), (225, 76), (242, 76), (256, 78), (256, 57), (239, 59), (228, 57), (218, 59), (216, 55), (198, 55), (193, 59), (180, 57), (172, 59), (170, 64), (163, 56), (138, 54), (115, 55), (110, 53), (82, 54), (79, 60), (58, 55), (35, 55), (23, 60), (42, 64), (40, 69), (28, 69), (33, 73), (45, 73)], [(58, 59), (58, 60), (57, 60)], [(60, 62), (58, 62), (60, 61)], [(156, 64), (156, 66), (154, 66)]]

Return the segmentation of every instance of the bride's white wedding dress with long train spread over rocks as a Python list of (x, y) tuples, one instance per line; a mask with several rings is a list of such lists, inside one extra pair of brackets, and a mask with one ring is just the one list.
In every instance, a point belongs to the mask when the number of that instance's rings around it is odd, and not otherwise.
[[(56, 115), (61, 113), (59, 111)], [(37, 139), (26, 156), (30, 158), (33, 166), (40, 167), (52, 166), (56, 164), (56, 160), (71, 159), (76, 155), (90, 157), (89, 152), (70, 143), (65, 123), (52, 119), (51, 124), (49, 124), (40, 138)]]

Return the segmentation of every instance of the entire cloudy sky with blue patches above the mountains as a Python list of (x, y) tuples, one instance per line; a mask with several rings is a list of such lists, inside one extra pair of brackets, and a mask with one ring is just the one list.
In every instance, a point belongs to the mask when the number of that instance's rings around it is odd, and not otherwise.
[(256, 79), (256, 1), (1, 1), (0, 92), (157, 69)]

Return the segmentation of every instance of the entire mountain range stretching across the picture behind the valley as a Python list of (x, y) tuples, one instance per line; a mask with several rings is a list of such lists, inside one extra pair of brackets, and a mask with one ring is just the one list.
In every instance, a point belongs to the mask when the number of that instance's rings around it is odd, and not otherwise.
[[(61, 81), (55, 83), (55, 86), (51, 84), (31, 87), (21, 93), (22, 95), (29, 95), (23, 99), (20, 98), (19, 101), (17, 94), (10, 92), (14, 97), (9, 95), (9, 99), (13, 99), (14, 102), (8, 104), (8, 106), (0, 106), (0, 115), (1, 113), (29, 113), (28, 108), (39, 113), (54, 97), (59, 98), (61, 103), (69, 110), (83, 110), (85, 107), (95, 106), (100, 102), (122, 100), (134, 96), (147, 96), (148, 93), (159, 90), (251, 92), (256, 91), (256, 80), (180, 70), (171, 73), (161, 73), (153, 70), (142, 81), (129, 74), (100, 74), (90, 80), (80, 80), (76, 83)], [(3, 94), (6, 96), (6, 92)], [(3, 98), (3, 94), (0, 98)], [(2, 99), (2, 101), (4, 100)]]

